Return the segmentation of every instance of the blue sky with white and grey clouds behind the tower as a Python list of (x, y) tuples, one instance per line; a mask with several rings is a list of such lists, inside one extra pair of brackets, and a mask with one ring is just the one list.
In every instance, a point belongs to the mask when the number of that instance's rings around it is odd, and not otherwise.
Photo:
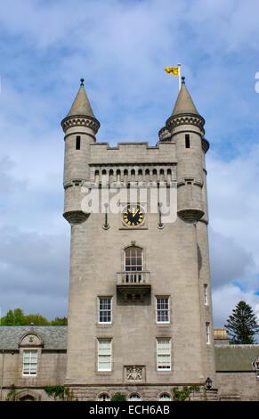
[[(182, 72), (206, 119), (214, 327), (259, 314), (259, 4), (10, 0), (1, 4), (0, 309), (66, 316), (63, 133), (85, 78), (98, 141), (156, 144)], [(256, 85), (258, 83), (258, 85)]]

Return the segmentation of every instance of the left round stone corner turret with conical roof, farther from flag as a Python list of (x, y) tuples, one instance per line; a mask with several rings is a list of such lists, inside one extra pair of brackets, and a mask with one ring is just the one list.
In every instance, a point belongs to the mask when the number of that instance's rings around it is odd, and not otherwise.
[(64, 217), (70, 224), (79, 224), (87, 218), (81, 209), (81, 186), (90, 179), (90, 144), (96, 142), (95, 135), (100, 122), (94, 117), (91, 104), (85, 93), (84, 78), (69, 114), (62, 119), (65, 133)]

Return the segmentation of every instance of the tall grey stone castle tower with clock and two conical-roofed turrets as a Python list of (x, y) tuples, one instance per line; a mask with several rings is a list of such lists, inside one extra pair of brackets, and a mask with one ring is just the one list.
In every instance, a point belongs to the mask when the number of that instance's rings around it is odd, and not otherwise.
[(79, 399), (168, 399), (174, 385), (214, 382), (204, 123), (184, 80), (155, 146), (96, 142), (84, 86), (62, 120), (66, 385)]

